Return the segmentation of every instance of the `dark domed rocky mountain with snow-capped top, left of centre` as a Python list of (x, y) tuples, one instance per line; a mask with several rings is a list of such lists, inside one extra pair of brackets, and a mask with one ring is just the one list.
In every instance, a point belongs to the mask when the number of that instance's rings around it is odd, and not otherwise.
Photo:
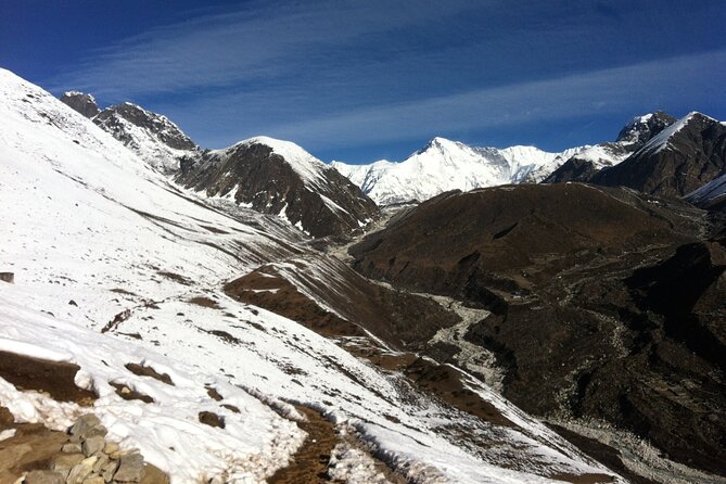
[(294, 143), (271, 138), (188, 158), (176, 180), (208, 196), (285, 216), (316, 238), (360, 230), (378, 215), (375, 203), (335, 168)]

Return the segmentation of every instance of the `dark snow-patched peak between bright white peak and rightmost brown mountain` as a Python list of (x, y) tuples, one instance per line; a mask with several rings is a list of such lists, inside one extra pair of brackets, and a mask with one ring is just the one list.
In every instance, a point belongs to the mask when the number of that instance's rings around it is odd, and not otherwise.
[(604, 142), (583, 150), (543, 182), (589, 181), (598, 171), (622, 162), (675, 122), (676, 118), (662, 111), (637, 116), (621, 129), (615, 142)]

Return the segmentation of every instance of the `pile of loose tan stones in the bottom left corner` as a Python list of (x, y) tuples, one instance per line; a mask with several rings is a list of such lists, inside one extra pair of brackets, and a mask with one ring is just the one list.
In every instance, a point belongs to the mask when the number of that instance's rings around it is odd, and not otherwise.
[[(69, 430), (68, 442), (50, 462), (50, 470), (33, 471), (25, 484), (130, 484), (161, 483), (145, 474), (137, 450), (124, 451), (106, 442), (107, 430), (92, 413), (80, 417)], [(163, 475), (163, 474), (162, 474)], [(163, 476), (166, 477), (166, 476)]]

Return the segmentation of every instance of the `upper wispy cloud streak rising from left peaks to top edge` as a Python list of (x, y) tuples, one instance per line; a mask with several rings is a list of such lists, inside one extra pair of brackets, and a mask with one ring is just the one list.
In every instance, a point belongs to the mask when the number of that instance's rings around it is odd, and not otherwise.
[(315, 56), (329, 48), (471, 8), (472, 2), (463, 0), (256, 1), (243, 11), (157, 27), (99, 49), (47, 85), (53, 90), (75, 86), (115, 99), (275, 79), (288, 82), (285, 76), (304, 73), (306, 66), (324, 65), (326, 60)]

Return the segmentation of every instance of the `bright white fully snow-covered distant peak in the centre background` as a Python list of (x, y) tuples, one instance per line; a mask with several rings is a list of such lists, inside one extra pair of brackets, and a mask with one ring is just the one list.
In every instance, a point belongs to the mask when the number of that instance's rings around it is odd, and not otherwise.
[(422, 202), (449, 190), (539, 181), (578, 149), (548, 153), (535, 147), (475, 148), (434, 138), (400, 163), (333, 166), (381, 205)]

